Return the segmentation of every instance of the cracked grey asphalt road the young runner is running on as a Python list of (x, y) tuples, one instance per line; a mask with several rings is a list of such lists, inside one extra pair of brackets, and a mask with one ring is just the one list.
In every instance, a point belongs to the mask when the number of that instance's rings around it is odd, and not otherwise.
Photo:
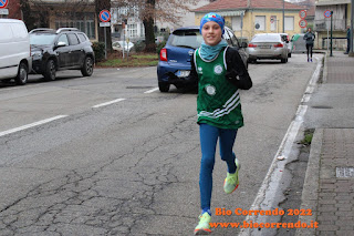
[[(235, 146), (240, 186), (223, 193), (227, 168), (217, 155), (214, 208), (251, 207), (315, 68), (304, 54), (250, 64), (253, 88), (241, 92), (246, 126)], [(156, 68), (0, 83), (0, 235), (191, 235), (199, 214), (196, 94), (160, 93), (156, 84)], [(212, 214), (212, 222), (246, 218)]]

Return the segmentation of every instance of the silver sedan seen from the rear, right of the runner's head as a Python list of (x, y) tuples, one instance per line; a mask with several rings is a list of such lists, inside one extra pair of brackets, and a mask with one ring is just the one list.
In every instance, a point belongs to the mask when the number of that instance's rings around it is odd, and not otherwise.
[(288, 47), (279, 33), (256, 34), (247, 50), (250, 62), (261, 59), (280, 59), (282, 63), (288, 62)]

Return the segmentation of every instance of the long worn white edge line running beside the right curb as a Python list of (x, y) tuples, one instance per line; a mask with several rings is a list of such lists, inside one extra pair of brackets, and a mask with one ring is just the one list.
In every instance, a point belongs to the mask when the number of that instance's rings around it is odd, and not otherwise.
[[(302, 96), (301, 102), (308, 102), (311, 98), (312, 92), (314, 91), (314, 86), (320, 78), (320, 70), (322, 66), (322, 61), (319, 60), (316, 70), (313, 72), (313, 75), (308, 84), (305, 93)], [(298, 136), (299, 130), (304, 121), (304, 115), (308, 111), (308, 105), (299, 105), (294, 120), (288, 127), (285, 136), (283, 137), (278, 152), (268, 170), (268, 173), (263, 179), (261, 187), (258, 191), (258, 194), (250, 207), (250, 211), (261, 211), (261, 209), (274, 209), (275, 201), (279, 199), (279, 196), (282, 195), (282, 184), (280, 181), (282, 179), (283, 170), (288, 162), (279, 161), (279, 156), (290, 156), (295, 138)], [(280, 193), (281, 192), (281, 193)], [(269, 216), (272, 217), (272, 216)], [(256, 222), (256, 223), (266, 223), (268, 222), (267, 216), (261, 215), (248, 215), (244, 219), (246, 222)], [(239, 233), (239, 236), (258, 236), (262, 235), (263, 232), (252, 228), (242, 228)], [(271, 235), (271, 234), (270, 234)]]

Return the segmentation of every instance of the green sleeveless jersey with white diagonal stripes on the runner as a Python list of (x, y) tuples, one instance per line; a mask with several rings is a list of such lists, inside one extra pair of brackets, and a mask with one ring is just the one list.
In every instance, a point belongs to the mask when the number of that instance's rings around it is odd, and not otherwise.
[(226, 50), (216, 59), (206, 61), (200, 58), (199, 49), (195, 52), (195, 65), (198, 73), (198, 123), (207, 123), (220, 129), (243, 126), (239, 90), (229, 83), (225, 73)]

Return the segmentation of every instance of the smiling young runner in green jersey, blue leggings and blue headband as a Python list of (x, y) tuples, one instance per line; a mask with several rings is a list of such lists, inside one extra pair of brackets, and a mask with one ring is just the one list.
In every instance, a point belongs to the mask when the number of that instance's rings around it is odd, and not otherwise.
[(250, 89), (252, 81), (238, 51), (229, 48), (222, 39), (223, 27), (225, 19), (217, 13), (207, 13), (201, 19), (204, 42), (195, 51), (191, 62), (190, 76), (198, 81), (197, 111), (201, 147), (201, 214), (195, 235), (211, 233), (212, 170), (218, 140), (221, 160), (228, 166), (223, 191), (231, 194), (239, 186), (240, 163), (232, 152), (237, 131), (243, 126), (239, 89)]

